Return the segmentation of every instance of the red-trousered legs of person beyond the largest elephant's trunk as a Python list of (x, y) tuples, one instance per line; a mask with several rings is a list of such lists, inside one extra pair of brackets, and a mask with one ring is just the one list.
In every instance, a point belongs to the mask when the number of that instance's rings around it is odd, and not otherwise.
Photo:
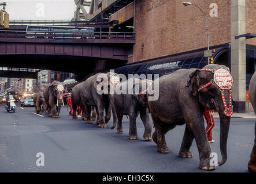
[(213, 118), (213, 110), (205, 109), (203, 116), (205, 117), (207, 127), (206, 127), (206, 135), (208, 137), (209, 143), (214, 143), (212, 129), (214, 127), (214, 118)]

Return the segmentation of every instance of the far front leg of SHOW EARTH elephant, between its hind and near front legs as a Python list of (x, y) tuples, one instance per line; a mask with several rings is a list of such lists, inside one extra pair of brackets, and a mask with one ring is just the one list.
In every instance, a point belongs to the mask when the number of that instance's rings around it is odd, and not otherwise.
[(194, 140), (194, 135), (186, 125), (183, 140), (182, 140), (180, 151), (179, 151), (180, 157), (182, 158), (193, 157), (192, 153), (190, 152), (190, 147), (192, 145), (193, 140)]

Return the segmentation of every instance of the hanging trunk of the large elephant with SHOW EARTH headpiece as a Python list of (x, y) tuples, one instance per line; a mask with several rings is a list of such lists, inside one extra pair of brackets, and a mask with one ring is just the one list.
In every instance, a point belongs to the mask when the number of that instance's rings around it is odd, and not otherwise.
[(224, 113), (220, 114), (220, 152), (221, 152), (221, 161), (218, 162), (220, 166), (227, 161), (227, 140), (228, 140), (228, 131), (231, 117), (225, 116)]

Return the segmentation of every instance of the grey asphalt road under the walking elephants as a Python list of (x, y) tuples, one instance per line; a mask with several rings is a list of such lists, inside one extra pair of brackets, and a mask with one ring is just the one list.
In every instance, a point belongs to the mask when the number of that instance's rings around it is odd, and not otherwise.
[[(66, 107), (61, 117), (53, 119), (33, 114), (34, 108), (6, 112), (0, 105), (0, 172), (248, 172), (247, 163), (254, 141), (254, 119), (232, 118), (228, 137), (228, 160), (214, 171), (198, 168), (199, 156), (195, 141), (191, 159), (179, 158), (185, 125), (166, 134), (169, 154), (157, 152), (153, 141), (142, 138), (144, 128), (138, 118), (139, 140), (129, 140), (129, 121), (124, 116), (124, 133), (116, 128), (98, 128), (96, 123), (73, 120)], [(211, 143), (212, 152), (221, 159), (219, 148), (220, 122), (216, 118)], [(154, 131), (154, 128), (153, 128)], [(36, 154), (44, 154), (44, 166), (36, 166)]]

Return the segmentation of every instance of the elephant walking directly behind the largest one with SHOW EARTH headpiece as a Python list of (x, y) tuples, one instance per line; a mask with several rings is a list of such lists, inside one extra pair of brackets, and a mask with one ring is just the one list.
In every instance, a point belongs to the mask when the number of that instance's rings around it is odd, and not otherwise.
[[(123, 116), (129, 116), (129, 139), (139, 139), (137, 134), (136, 128), (136, 118), (140, 114), (140, 119), (144, 124), (144, 135), (143, 138), (147, 140), (151, 140), (151, 124), (149, 120), (149, 108), (147, 105), (147, 95), (146, 93), (139, 93), (136, 94), (135, 90), (142, 91), (142, 81), (141, 79), (136, 78), (129, 78), (128, 81), (124, 81), (119, 83), (116, 88), (126, 86), (126, 93), (125, 94), (113, 94), (110, 97), (111, 104), (114, 106), (114, 110), (112, 110), (114, 118), (112, 129), (116, 127), (117, 123), (117, 133), (124, 133), (123, 130)], [(129, 94), (129, 83), (132, 83), (132, 94)]]

